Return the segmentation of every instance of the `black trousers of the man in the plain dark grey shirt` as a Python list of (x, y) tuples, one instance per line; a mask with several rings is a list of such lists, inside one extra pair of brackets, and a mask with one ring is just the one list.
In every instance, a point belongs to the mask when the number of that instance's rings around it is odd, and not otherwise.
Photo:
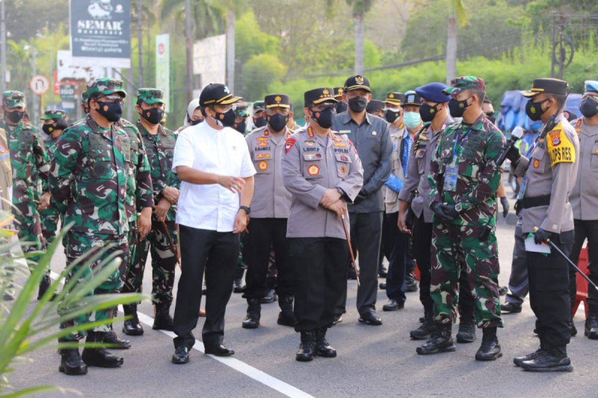
[[(351, 224), (351, 245), (359, 251), (359, 282), (357, 288), (357, 310), (359, 314), (376, 311), (378, 293), (378, 265), (380, 259), (380, 239), (382, 238), (382, 211), (372, 213), (349, 213)], [(347, 263), (350, 265), (350, 257)], [(347, 264), (345, 264), (347, 267)], [(348, 268), (346, 268), (348, 270)], [(347, 283), (338, 301), (335, 313), (346, 312)]]

